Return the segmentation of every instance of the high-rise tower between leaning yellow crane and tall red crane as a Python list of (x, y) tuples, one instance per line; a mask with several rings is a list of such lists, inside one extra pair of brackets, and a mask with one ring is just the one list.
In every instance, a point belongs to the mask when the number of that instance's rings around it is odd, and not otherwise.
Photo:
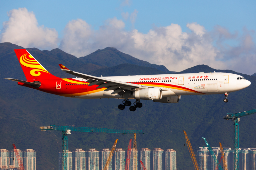
[(125, 151), (122, 148), (116, 149), (115, 152), (115, 170), (125, 169)]

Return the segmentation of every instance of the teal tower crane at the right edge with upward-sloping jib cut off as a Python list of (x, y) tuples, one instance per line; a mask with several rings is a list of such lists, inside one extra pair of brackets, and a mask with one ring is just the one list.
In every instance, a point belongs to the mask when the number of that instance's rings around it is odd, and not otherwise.
[(239, 117), (252, 115), (254, 113), (256, 113), (256, 109), (239, 113), (231, 113), (223, 117), (226, 120), (232, 119), (234, 122), (234, 170), (239, 170)]

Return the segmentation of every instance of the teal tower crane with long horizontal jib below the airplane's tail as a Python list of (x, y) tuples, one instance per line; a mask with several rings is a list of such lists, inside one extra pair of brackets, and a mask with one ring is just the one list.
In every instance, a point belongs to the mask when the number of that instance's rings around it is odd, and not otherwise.
[(41, 130), (59, 130), (62, 134), (62, 168), (63, 170), (67, 170), (68, 168), (68, 135), (71, 134), (71, 131), (75, 132), (100, 132), (100, 133), (142, 133), (142, 130), (115, 130), (115, 129), (107, 129), (107, 128), (86, 128), (86, 127), (73, 127), (73, 126), (41, 126)]

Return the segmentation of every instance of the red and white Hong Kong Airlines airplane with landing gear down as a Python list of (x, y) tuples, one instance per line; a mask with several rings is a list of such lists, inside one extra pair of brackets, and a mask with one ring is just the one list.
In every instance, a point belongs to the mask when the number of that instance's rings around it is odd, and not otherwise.
[[(251, 82), (231, 73), (188, 73), (95, 77), (69, 70), (62, 64), (62, 71), (76, 78), (59, 78), (47, 71), (26, 49), (15, 49), (21, 68), (27, 80), (5, 78), (18, 82), (18, 85), (59, 96), (79, 99), (124, 99), (118, 106), (130, 111), (141, 108), (140, 100), (153, 100), (160, 103), (178, 103), (183, 95), (228, 94), (242, 90)], [(77, 78), (79, 77), (79, 78)], [(131, 99), (135, 99), (132, 105)]]

